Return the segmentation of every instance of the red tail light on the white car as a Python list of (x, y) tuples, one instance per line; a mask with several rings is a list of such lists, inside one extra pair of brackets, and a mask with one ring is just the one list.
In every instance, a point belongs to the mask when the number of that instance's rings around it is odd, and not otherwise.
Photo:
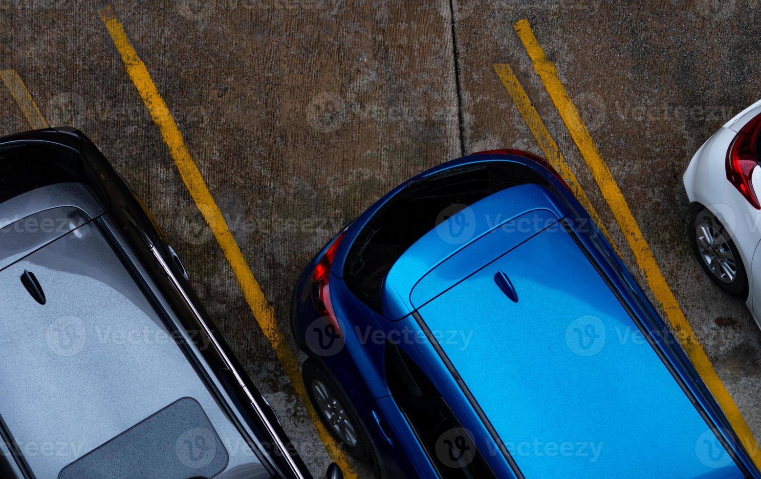
[(756, 192), (753, 191), (750, 175), (758, 164), (756, 138), (759, 136), (759, 128), (761, 128), (761, 115), (753, 118), (740, 129), (740, 133), (734, 137), (727, 152), (727, 179), (756, 209), (761, 209), (761, 205), (759, 205)]

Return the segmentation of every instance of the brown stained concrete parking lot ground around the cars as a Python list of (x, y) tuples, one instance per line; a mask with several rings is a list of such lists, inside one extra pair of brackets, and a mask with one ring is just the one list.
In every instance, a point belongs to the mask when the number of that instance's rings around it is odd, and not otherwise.
[[(689, 251), (681, 186), (699, 145), (757, 99), (756, 1), (188, 0), (113, 8), (285, 331), (308, 260), (387, 190), (462, 152), (540, 152), (495, 62), (512, 65), (603, 222), (626, 244), (514, 32), (515, 21), (528, 18), (761, 438), (761, 335), (743, 303), (720, 292)], [(91, 136), (148, 203), (221, 333), (319, 475), (328, 458), (314, 427), (126, 74), (100, 5), (0, 0), (0, 67), (18, 71), (49, 123)], [(0, 133), (28, 129), (6, 89), (0, 106)], [(629, 249), (622, 253), (645, 285)]]

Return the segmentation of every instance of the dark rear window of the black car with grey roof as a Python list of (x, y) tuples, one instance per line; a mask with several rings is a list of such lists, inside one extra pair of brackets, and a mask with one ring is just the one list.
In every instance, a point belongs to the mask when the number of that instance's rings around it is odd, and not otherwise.
[(43, 142), (0, 146), (0, 203), (50, 184), (81, 181), (82, 161), (77, 152)]

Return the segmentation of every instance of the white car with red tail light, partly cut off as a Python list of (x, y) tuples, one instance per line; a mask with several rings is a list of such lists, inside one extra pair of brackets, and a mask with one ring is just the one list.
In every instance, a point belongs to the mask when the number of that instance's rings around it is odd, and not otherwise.
[(722, 289), (746, 297), (761, 327), (761, 101), (708, 139), (689, 162), (684, 187), (689, 239), (701, 266)]

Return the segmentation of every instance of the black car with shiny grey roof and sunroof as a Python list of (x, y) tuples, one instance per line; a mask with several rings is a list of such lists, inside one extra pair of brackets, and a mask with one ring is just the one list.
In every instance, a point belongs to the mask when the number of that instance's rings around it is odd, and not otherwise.
[(75, 129), (0, 139), (0, 298), (0, 477), (310, 477), (145, 205)]

